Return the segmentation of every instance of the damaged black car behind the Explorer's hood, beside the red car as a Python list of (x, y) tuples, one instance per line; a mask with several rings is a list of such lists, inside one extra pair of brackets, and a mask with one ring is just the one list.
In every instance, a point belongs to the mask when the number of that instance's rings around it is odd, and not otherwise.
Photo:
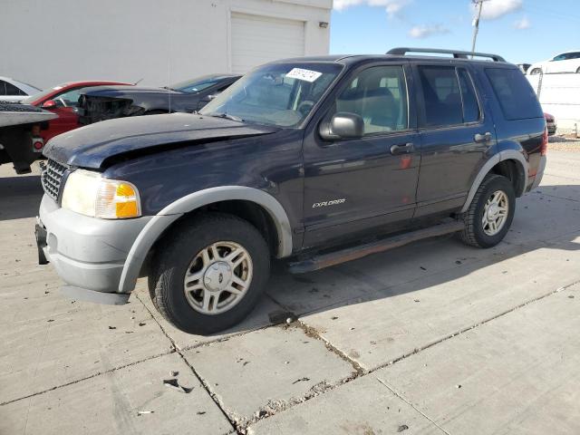
[(82, 124), (125, 116), (198, 111), (240, 75), (209, 74), (164, 88), (144, 86), (94, 86), (79, 97)]

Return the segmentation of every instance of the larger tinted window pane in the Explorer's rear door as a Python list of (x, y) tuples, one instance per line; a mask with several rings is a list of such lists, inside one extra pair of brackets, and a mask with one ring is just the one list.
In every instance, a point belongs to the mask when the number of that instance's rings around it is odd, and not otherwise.
[(442, 127), (463, 122), (461, 93), (455, 68), (420, 66), (420, 82), (425, 101), (425, 127)]

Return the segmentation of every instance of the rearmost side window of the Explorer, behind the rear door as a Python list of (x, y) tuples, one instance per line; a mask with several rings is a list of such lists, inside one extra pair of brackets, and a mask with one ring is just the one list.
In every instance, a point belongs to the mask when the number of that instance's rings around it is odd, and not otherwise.
[(507, 120), (544, 116), (536, 92), (519, 70), (486, 68), (486, 74)]

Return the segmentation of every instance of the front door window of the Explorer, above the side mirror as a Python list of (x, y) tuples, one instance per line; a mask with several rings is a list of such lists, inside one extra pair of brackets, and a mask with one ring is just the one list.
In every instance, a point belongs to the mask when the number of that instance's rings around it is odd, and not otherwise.
[(359, 73), (336, 99), (336, 111), (360, 115), (365, 135), (407, 130), (407, 83), (402, 66), (374, 66)]

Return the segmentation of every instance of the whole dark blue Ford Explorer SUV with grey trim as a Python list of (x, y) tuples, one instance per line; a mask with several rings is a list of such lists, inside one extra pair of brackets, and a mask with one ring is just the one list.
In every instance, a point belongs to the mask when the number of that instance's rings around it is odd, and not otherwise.
[(250, 313), (274, 257), (308, 273), (449, 233), (493, 247), (542, 179), (546, 121), (516, 65), (470, 55), (267, 63), (196, 114), (58, 136), (41, 262), (108, 304), (148, 275), (169, 322), (214, 333)]

